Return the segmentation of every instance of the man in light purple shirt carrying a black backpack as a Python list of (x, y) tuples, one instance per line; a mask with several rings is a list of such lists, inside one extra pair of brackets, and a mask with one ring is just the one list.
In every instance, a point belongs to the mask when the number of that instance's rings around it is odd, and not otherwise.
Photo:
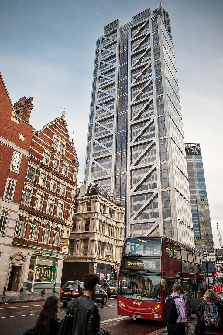
[(167, 321), (169, 335), (185, 335), (188, 333), (188, 318), (184, 300), (180, 297), (182, 286), (174, 284), (173, 293), (165, 299), (163, 315)]

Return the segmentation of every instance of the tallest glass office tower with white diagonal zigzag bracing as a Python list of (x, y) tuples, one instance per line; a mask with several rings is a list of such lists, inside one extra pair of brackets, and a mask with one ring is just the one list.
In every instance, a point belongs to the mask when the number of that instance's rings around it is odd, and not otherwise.
[(104, 27), (96, 43), (85, 182), (126, 208), (125, 235), (194, 246), (169, 15), (150, 8)]

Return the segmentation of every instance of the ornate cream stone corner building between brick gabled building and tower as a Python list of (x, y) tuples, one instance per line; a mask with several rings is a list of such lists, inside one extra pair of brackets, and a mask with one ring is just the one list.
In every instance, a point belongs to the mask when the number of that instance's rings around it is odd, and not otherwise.
[[(111, 266), (119, 266), (124, 242), (124, 206), (116, 204), (109, 191), (97, 183), (77, 188), (70, 234), (70, 256), (64, 262), (62, 284), (97, 273), (112, 279)], [(112, 251), (112, 256), (106, 256)]]

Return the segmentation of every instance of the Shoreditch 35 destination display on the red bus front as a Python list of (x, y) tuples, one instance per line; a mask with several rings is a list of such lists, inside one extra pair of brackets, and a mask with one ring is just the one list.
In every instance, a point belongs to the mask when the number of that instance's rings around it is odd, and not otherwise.
[(123, 258), (122, 270), (159, 272), (160, 259)]

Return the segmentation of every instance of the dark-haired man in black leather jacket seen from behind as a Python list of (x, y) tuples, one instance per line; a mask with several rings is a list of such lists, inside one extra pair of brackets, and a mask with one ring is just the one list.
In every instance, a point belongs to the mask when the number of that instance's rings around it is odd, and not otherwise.
[(70, 308), (72, 308), (73, 312), (71, 335), (109, 335), (105, 328), (99, 327), (100, 316), (98, 305), (91, 299), (95, 294), (98, 281), (99, 277), (97, 275), (91, 273), (84, 275), (85, 291), (83, 295), (69, 302), (67, 312)]

